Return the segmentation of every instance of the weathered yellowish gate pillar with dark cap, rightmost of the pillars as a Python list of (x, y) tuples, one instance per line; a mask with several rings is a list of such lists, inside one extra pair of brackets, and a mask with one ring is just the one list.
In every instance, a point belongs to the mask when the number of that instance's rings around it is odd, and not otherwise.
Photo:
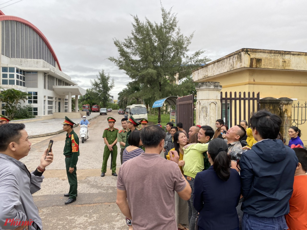
[(286, 144), (289, 144), (290, 136), (288, 134), (289, 128), (292, 126), (292, 103), (290, 98), (279, 98), (280, 118), (282, 118), (282, 125), (280, 126), (280, 132), (283, 138), (286, 140)]

